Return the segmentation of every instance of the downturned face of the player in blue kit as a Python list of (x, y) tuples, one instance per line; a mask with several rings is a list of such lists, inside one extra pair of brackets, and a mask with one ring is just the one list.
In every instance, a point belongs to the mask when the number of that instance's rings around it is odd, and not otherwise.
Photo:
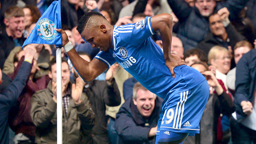
[(92, 47), (98, 48), (101, 51), (107, 51), (110, 46), (110, 40), (108, 39), (107, 32), (103, 32), (104, 30), (99, 28), (98, 26), (92, 28), (84, 29), (81, 33), (81, 36), (88, 43), (91, 44)]

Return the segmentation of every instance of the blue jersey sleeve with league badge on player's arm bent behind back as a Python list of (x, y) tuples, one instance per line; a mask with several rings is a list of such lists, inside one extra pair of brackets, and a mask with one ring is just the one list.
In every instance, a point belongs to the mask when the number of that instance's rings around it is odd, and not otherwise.
[[(141, 20), (137, 23), (133, 24), (133, 29), (131, 31), (131, 35), (120, 35), (121, 39), (126, 43), (130, 43), (134, 46), (139, 46), (143, 43), (148, 37), (154, 35), (155, 32), (151, 26), (151, 17), (145, 17), (144, 20)], [(120, 26), (121, 28), (122, 26)]]

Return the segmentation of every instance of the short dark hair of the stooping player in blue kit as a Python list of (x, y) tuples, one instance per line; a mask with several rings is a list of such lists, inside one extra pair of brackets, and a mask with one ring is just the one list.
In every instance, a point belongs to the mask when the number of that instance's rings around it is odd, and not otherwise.
[(78, 32), (79, 32), (79, 34), (81, 34), (83, 31), (84, 31), (84, 29), (85, 29), (85, 27), (86, 26), (89, 26), (90, 25), (90, 18), (95, 18), (95, 17), (102, 17), (102, 18), (104, 18), (104, 19), (106, 19), (101, 13), (99, 13), (99, 12), (87, 12), (87, 13), (85, 13), (82, 17), (81, 17), (81, 19), (79, 20), (79, 23), (78, 23), (78, 26), (77, 26), (77, 30), (78, 30)]

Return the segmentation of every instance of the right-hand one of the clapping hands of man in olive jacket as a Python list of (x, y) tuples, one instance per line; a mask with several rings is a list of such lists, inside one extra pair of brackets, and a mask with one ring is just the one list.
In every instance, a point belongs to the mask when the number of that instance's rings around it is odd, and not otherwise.
[(82, 80), (82, 78), (78, 77), (76, 78), (76, 84), (72, 84), (72, 92), (71, 96), (73, 100), (75, 101), (75, 104), (81, 103), (81, 94), (83, 92), (85, 82)]

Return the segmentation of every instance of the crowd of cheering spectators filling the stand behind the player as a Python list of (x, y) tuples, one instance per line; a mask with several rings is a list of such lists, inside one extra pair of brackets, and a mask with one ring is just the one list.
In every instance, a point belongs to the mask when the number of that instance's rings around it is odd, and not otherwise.
[[(21, 49), (53, 0), (0, 1), (0, 143), (56, 143), (54, 45)], [(90, 11), (122, 26), (173, 16), (172, 55), (209, 84), (201, 133), (184, 144), (256, 144), (256, 0), (61, 0), (62, 29), (90, 62), (76, 27)], [(159, 33), (151, 36), (163, 49)], [(163, 99), (118, 63), (84, 83), (62, 49), (63, 143), (154, 144)], [(152, 75), (157, 75), (153, 74)]]

